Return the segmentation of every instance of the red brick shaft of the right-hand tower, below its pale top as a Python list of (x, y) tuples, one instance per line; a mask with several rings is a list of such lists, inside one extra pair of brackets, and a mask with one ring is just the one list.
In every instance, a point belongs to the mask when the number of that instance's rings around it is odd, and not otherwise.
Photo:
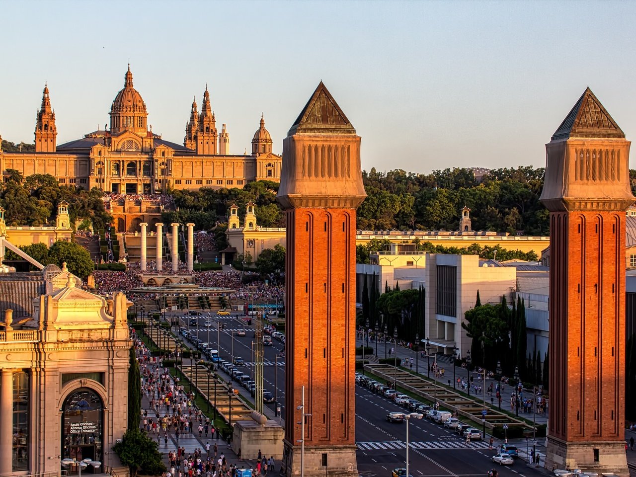
[(550, 221), (550, 434), (622, 440), (625, 212), (552, 212)]

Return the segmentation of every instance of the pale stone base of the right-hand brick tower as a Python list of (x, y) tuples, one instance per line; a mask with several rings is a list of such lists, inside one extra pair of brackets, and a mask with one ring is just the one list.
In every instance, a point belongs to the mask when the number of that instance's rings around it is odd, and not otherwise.
[[(598, 460), (595, 460), (598, 450)], [(614, 473), (628, 477), (623, 441), (565, 442), (548, 436), (546, 469), (581, 469), (583, 472)]]

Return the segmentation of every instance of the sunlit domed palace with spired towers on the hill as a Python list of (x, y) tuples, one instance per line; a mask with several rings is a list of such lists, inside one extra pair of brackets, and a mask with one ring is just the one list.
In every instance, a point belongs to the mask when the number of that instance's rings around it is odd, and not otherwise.
[(230, 154), (230, 135), (225, 124), (217, 130), (207, 86), (200, 111), (196, 100), (192, 102), (183, 145), (153, 133), (146, 103), (133, 86), (130, 65), (110, 116), (110, 128), (58, 145), (55, 110), (45, 86), (36, 121), (35, 152), (0, 151), (0, 169), (17, 169), (24, 176), (51, 174), (60, 184), (97, 187), (114, 194), (242, 188), (249, 181), (280, 180), (281, 157), (272, 153), (272, 137), (262, 114), (251, 155)]

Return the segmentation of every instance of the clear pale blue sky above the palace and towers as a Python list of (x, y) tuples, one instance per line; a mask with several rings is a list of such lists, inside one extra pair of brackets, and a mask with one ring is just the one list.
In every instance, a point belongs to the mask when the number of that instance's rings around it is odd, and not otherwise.
[(128, 58), (154, 132), (183, 142), (207, 83), (232, 153), (261, 111), (280, 153), (321, 79), (367, 170), (543, 166), (587, 85), (636, 139), (633, 1), (4, 0), (0, 17), (14, 142), (32, 142), (45, 80), (58, 144), (104, 127)]

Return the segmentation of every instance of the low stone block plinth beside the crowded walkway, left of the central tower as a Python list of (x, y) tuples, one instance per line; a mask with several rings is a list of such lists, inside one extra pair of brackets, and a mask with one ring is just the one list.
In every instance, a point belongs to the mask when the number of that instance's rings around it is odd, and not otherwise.
[(263, 456), (282, 459), (282, 438), (284, 431), (275, 420), (264, 425), (253, 420), (239, 420), (234, 424), (232, 450), (241, 453), (242, 459), (256, 459), (260, 450)]

